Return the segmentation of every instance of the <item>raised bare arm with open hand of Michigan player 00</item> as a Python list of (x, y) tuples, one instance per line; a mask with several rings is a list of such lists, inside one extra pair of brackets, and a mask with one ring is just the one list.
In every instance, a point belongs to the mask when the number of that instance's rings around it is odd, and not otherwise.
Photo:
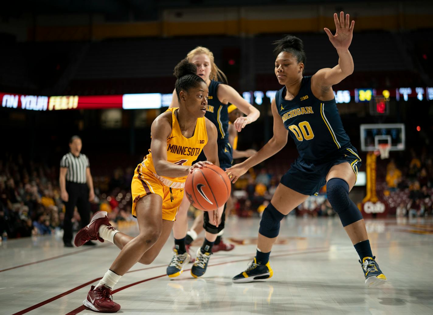
[(337, 50), (339, 56), (338, 64), (333, 68), (320, 69), (313, 75), (311, 84), (316, 88), (331, 87), (353, 73), (354, 64), (352, 55), (349, 52), (349, 46), (352, 42), (355, 21), (352, 20), (352, 23), (349, 23), (349, 14), (346, 14), (345, 21), (342, 11), (340, 12), (340, 19), (338, 19), (337, 13), (334, 13), (334, 22), (336, 26), (335, 35), (332, 35), (331, 31), (327, 28), (324, 30), (330, 42)]

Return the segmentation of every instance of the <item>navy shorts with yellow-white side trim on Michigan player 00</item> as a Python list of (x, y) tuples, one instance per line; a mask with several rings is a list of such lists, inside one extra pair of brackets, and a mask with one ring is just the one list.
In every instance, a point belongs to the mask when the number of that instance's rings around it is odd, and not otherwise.
[(326, 157), (325, 162), (308, 161), (298, 157), (287, 173), (281, 177), (280, 183), (304, 195), (317, 195), (320, 188), (326, 184), (326, 175), (331, 167), (344, 162), (350, 164), (355, 176), (358, 177), (362, 161), (358, 151), (350, 145), (339, 149), (334, 157)]

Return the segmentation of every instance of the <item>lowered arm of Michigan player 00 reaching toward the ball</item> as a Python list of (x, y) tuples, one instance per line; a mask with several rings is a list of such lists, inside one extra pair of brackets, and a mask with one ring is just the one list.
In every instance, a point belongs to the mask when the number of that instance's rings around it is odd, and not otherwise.
[(265, 161), (267, 158), (271, 157), (284, 148), (284, 145), (286, 145), (288, 130), (285, 129), (284, 123), (278, 114), (275, 99), (272, 100), (271, 109), (272, 116), (274, 116), (274, 135), (272, 136), (271, 140), (269, 140), (268, 143), (266, 143), (263, 148), (261, 148), (252, 157), (249, 157), (242, 163), (233, 165), (233, 167), (230, 167), (226, 170), (227, 175), (229, 175), (229, 178), (233, 183), (236, 182), (240, 176), (245, 174), (249, 168), (259, 164), (262, 161)]

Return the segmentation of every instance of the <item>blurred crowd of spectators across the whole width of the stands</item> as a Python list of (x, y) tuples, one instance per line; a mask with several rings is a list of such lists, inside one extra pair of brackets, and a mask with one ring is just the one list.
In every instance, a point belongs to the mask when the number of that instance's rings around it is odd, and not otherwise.
[[(379, 196), (388, 203), (391, 215), (414, 217), (433, 214), (433, 160), (425, 152), (423, 150), (418, 156), (412, 150), (411, 159), (407, 162), (397, 163), (391, 158), (382, 180), (378, 174)], [(133, 222), (132, 174), (133, 169), (129, 167), (116, 168), (112, 174), (94, 175), (92, 212), (107, 211), (114, 223)], [(266, 167), (249, 170), (233, 186), (227, 215), (260, 216), (275, 193), (281, 176), (280, 171)], [(325, 187), (318, 196), (310, 196), (291, 214), (336, 215), (326, 199)], [(21, 156), (0, 159), (0, 234), (3, 237), (52, 234), (61, 231), (63, 219), (58, 167), (23, 161)], [(79, 228), (80, 220), (78, 211), (75, 211), (75, 230)]]

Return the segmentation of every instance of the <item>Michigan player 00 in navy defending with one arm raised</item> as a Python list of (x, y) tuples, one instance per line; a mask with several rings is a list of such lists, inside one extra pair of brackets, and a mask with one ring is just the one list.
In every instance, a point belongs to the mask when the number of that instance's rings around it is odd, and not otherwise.
[(323, 68), (312, 77), (304, 77), (306, 60), (301, 39), (287, 35), (274, 44), (275, 75), (284, 85), (271, 103), (274, 135), (255, 155), (226, 170), (232, 182), (256, 164), (280, 151), (293, 138), (299, 157), (281, 178), (281, 182), (263, 212), (257, 252), (247, 270), (233, 277), (233, 282), (252, 282), (270, 278), (273, 271), (269, 254), (280, 228), (280, 221), (308, 196), (316, 194), (326, 183), (328, 200), (338, 213), (344, 229), (359, 254), (359, 262), (368, 286), (386, 282), (372, 254), (362, 214), (349, 199), (356, 182), (361, 158), (343, 129), (332, 90), (353, 72), (349, 52), (354, 21), (349, 14), (334, 14), (336, 34), (325, 28), (339, 55), (338, 64)]

